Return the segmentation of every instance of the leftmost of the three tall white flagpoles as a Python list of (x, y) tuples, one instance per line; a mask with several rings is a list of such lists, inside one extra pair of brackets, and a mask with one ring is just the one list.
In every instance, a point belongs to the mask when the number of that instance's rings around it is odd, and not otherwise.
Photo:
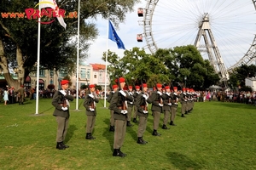
[[(40, 10), (40, 0), (39, 6)], [(38, 100), (39, 100), (39, 66), (40, 66), (40, 39), (41, 39), (41, 18), (38, 18), (38, 68), (37, 68), (37, 96), (36, 96), (36, 115), (38, 115)], [(33, 94), (32, 94), (33, 95)]]

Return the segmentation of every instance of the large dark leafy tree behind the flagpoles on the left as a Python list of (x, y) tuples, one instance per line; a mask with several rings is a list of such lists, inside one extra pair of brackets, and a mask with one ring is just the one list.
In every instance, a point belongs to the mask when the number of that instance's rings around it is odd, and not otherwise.
[[(59, 8), (64, 8), (66, 14), (74, 14), (78, 9), (78, 0), (56, 1)], [(125, 20), (125, 14), (131, 12), (138, 0), (88, 0), (81, 2), (80, 9), (80, 58), (86, 57), (86, 50), (90, 46), (89, 41), (96, 39), (98, 31), (92, 21), (101, 15), (106, 19), (108, 13), (113, 23), (118, 26), (119, 22)], [(0, 11), (23, 13), (26, 8), (33, 8), (38, 1), (31, 0), (2, 0)], [(42, 21), (51, 20), (43, 16)], [(85, 21), (84, 21), (85, 20)], [(45, 69), (70, 68), (73, 71), (73, 63), (76, 62), (76, 40), (78, 20), (76, 18), (65, 19), (67, 29), (64, 30), (55, 21), (50, 25), (41, 25), (41, 51), (40, 65)], [(25, 77), (34, 69), (37, 62), (38, 45), (38, 22), (21, 18), (0, 18), (0, 68), (9, 85), (18, 88)], [(18, 79), (10, 76), (9, 70), (15, 69)]]

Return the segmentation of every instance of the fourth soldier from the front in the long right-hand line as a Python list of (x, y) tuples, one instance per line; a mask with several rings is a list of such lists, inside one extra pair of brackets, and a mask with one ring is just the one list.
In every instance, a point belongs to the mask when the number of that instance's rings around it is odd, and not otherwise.
[(163, 127), (162, 129), (170, 129), (169, 127), (166, 127), (166, 124), (168, 123), (169, 117), (170, 117), (170, 111), (171, 111), (171, 91), (170, 91), (170, 87), (166, 86), (166, 93), (162, 94), (162, 98), (163, 98), (163, 102), (164, 102), (164, 106), (163, 106), (163, 110), (164, 110), (164, 120), (163, 120)]

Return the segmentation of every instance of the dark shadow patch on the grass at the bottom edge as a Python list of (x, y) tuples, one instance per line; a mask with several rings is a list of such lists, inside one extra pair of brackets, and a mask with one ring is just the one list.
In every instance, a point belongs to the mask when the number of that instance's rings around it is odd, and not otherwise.
[(172, 165), (177, 169), (202, 169), (203, 167), (196, 161), (191, 160), (188, 156), (177, 152), (167, 152), (166, 156), (172, 161)]

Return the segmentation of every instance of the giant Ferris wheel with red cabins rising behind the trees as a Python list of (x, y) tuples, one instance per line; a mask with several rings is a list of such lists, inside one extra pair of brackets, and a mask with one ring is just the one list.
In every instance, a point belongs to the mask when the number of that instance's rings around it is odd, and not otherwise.
[[(256, 55), (255, 0), (147, 0), (138, 8), (143, 42), (150, 53), (158, 48), (193, 44), (215, 71), (229, 79), (228, 71), (252, 64)], [(212, 52), (211, 52), (212, 50)], [(213, 55), (213, 56), (212, 56)], [(214, 66), (215, 65), (215, 66)]]

